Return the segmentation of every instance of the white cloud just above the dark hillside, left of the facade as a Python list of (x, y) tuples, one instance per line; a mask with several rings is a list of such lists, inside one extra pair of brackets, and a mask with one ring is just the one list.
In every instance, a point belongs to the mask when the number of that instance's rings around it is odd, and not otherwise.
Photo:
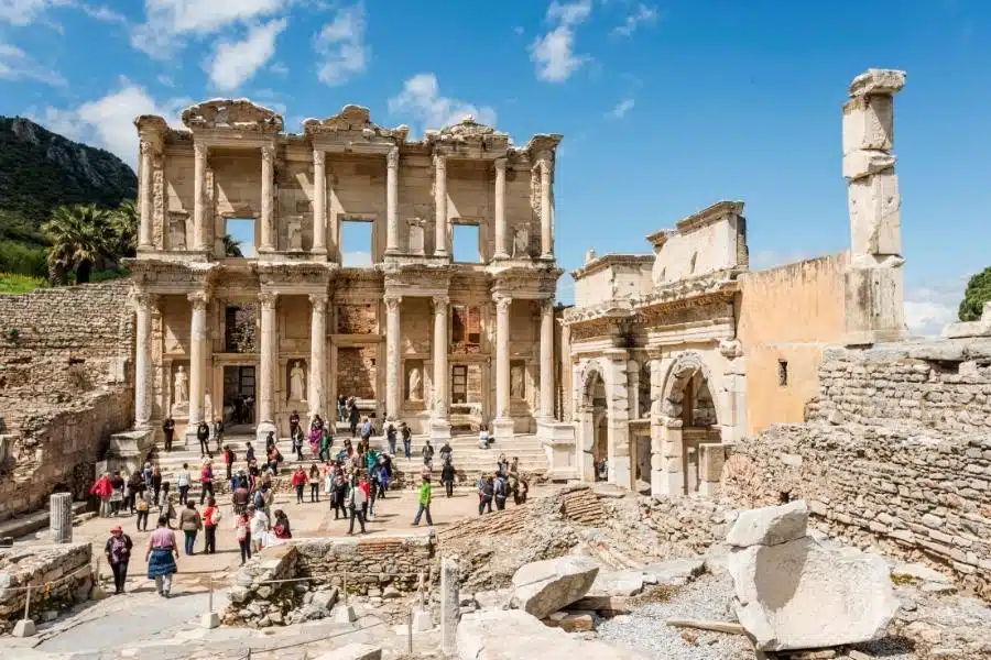
[(26, 114), (66, 138), (101, 146), (134, 167), (138, 162), (134, 118), (139, 114), (160, 114), (170, 125), (181, 127), (179, 112), (190, 100), (176, 98), (162, 103), (130, 80), (121, 79), (120, 85), (117, 91), (75, 109), (50, 106), (40, 116)]

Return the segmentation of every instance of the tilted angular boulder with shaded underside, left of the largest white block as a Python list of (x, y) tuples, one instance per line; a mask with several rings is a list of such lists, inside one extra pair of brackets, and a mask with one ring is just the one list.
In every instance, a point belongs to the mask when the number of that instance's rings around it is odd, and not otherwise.
[(591, 587), (599, 565), (585, 557), (562, 557), (521, 566), (513, 575), (512, 604), (537, 618), (563, 609)]

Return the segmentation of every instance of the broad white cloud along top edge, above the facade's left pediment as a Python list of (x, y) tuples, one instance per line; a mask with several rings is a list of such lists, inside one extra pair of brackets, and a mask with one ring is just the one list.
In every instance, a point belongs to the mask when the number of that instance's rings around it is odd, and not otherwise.
[[(2, 1), (2, 0), (0, 0)], [(144, 0), (145, 22), (131, 34), (131, 45), (167, 59), (184, 36), (205, 36), (227, 28), (273, 16), (291, 0)]]

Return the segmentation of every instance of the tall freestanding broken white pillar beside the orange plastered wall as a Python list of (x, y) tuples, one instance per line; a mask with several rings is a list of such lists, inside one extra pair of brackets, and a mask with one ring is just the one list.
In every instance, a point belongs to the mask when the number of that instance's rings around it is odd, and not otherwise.
[(905, 332), (901, 197), (895, 175), (894, 95), (905, 73), (870, 69), (843, 106), (843, 177), (850, 210), (846, 343), (897, 341)]

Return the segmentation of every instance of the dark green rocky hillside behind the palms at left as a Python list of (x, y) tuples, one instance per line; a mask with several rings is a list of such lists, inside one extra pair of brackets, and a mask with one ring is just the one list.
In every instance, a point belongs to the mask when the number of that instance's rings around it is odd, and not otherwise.
[(0, 117), (0, 272), (44, 274), (41, 224), (54, 208), (112, 208), (137, 196), (137, 175), (113, 154)]

